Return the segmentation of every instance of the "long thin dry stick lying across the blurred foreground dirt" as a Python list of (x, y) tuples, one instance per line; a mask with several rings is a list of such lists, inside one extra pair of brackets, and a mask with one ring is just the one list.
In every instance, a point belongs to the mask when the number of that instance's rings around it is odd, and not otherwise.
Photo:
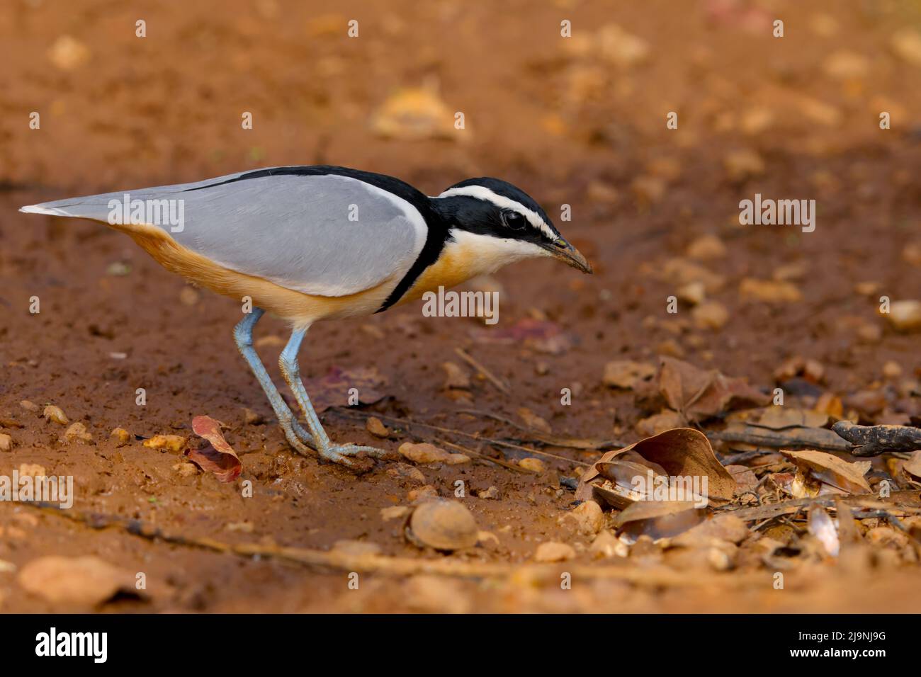
[(118, 527), (148, 541), (163, 541), (187, 547), (204, 548), (217, 553), (237, 554), (244, 557), (253, 555), (273, 557), (304, 566), (322, 566), (341, 571), (377, 573), (385, 576), (429, 574), (458, 578), (519, 578), (522, 573), (528, 573), (531, 575), (531, 579), (558, 582), (561, 570), (565, 569), (573, 578), (623, 580), (636, 585), (663, 587), (693, 588), (718, 585), (720, 583), (732, 587), (749, 587), (765, 586), (770, 582), (767, 574), (733, 574), (731, 576), (713, 574), (701, 576), (696, 573), (682, 574), (670, 569), (643, 569), (632, 566), (587, 566), (573, 563), (515, 565), (496, 562), (461, 562), (448, 558), (388, 557), (382, 554), (351, 554), (336, 550), (313, 550), (280, 545), (262, 545), (261, 543), (224, 543), (212, 538), (170, 534), (138, 519), (125, 519), (115, 515), (81, 512), (73, 509), (64, 511), (52, 503), (27, 502), (25, 505), (51, 512), (65, 519), (81, 522), (92, 529)]

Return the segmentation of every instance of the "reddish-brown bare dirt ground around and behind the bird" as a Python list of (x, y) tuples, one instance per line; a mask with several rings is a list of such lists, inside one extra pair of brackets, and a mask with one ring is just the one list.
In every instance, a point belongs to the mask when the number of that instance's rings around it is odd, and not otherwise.
[[(138, 18), (145, 39), (134, 35)], [(359, 20), (358, 39), (345, 36), (350, 18)], [(560, 37), (565, 18), (568, 41)], [(774, 18), (785, 21), (783, 39), (770, 35)], [(618, 35), (612, 26), (643, 41), (646, 53), (630, 53), (624, 40), (605, 48), (601, 36)], [(876, 293), (899, 299), (918, 298), (921, 288), (913, 249), (921, 244), (921, 89), (911, 86), (921, 57), (900, 32), (906, 28), (921, 29), (921, 7), (10, 0), (0, 11), (0, 414), (17, 426), (3, 431), (14, 444), (0, 451), (0, 473), (38, 463), (75, 476), (76, 509), (227, 543), (327, 549), (352, 539), (385, 554), (445, 556), (404, 543), (398, 523), (381, 519), (380, 508), (408, 505), (414, 488), (388, 473), (393, 463), (356, 475), (293, 453), (271, 420), (245, 422), (244, 407), (267, 417), (271, 409), (231, 340), (235, 301), (190, 290), (99, 224), (16, 211), (285, 164), (380, 171), (428, 194), (472, 176), (502, 177), (537, 197), (595, 265), (592, 277), (548, 262), (496, 275), (500, 327), (553, 321), (577, 338), (561, 355), (474, 342), (475, 321), (424, 318), (421, 304), (311, 329), (305, 378), (374, 366), (388, 379), (388, 399), (372, 407), (379, 413), (502, 437), (514, 433), (459, 410), (516, 418), (529, 407), (556, 433), (635, 441), (635, 424), (649, 412), (632, 393), (605, 387), (602, 370), (612, 359), (650, 361), (661, 352), (765, 390), (791, 356), (818, 360), (823, 388), (843, 396), (879, 389), (890, 361), (916, 382), (917, 333), (894, 332), (875, 298), (854, 291), (874, 282)], [(80, 46), (62, 44), (62, 36)], [(437, 88), (449, 114), (464, 112), (466, 129), (444, 138), (376, 134), (384, 102), (417, 87)], [(41, 113), (41, 129), (29, 129), (31, 111)], [(242, 111), (253, 113), (251, 130), (240, 127)], [(678, 130), (666, 129), (668, 111), (679, 111)], [(880, 130), (880, 111), (892, 113), (892, 129)], [(740, 227), (738, 203), (753, 193), (816, 199), (815, 232)], [(564, 203), (571, 223), (556, 218)], [(718, 331), (671, 323), (665, 298), (674, 285), (658, 274), (704, 234), (728, 249), (705, 264), (726, 280), (710, 295), (729, 309)], [(128, 273), (111, 274), (113, 263)], [(740, 298), (742, 278), (770, 279), (791, 263), (800, 264), (802, 301)], [(37, 315), (29, 313), (33, 296), (41, 298)], [(875, 327), (870, 340), (855, 331), (866, 326)], [(285, 333), (274, 318), (256, 333), (279, 383), (274, 365)], [(470, 403), (450, 397), (440, 366), (458, 361), (456, 347), (507, 379), (511, 394), (474, 379)], [(137, 388), (146, 389), (144, 407), (134, 403)], [(560, 404), (561, 388), (574, 391), (572, 406)], [(64, 427), (23, 410), (21, 400), (60, 406), (94, 441), (65, 441)], [(176, 454), (109, 438), (116, 426), (144, 438), (191, 435), (197, 414), (230, 426), (253, 498), (209, 474), (181, 476)], [(884, 414), (919, 414), (917, 396)], [(337, 416), (325, 424), (343, 441), (396, 449), (411, 439), (381, 442)], [(499, 488), (499, 500), (465, 499), (496, 541), (452, 556), (519, 564), (538, 543), (558, 540), (577, 545), (578, 561), (589, 563), (589, 539), (557, 521), (573, 501), (558, 485), (572, 476), (572, 463), (553, 461), (536, 476), (488, 463), (421, 470), (442, 496), (457, 479)], [(239, 523), (247, 531), (227, 529)], [(860, 572), (803, 566), (788, 574), (784, 591), (757, 566), (764, 583), (750, 585), (734, 582), (736, 572), (706, 585), (600, 581), (566, 592), (517, 579), (369, 575), (349, 590), (343, 572), (94, 531), (14, 504), (0, 504), (0, 528), (0, 560), (12, 565), (0, 571), (4, 612), (71, 610), (17, 584), (17, 569), (46, 554), (93, 554), (146, 572), (145, 600), (116, 600), (101, 611), (905, 612), (917, 609), (921, 589), (916, 563), (906, 560)]]

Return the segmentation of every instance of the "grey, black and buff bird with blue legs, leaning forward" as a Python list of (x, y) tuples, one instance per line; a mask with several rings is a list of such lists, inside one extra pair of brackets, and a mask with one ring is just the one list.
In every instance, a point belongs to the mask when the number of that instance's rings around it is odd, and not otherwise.
[[(521, 259), (552, 256), (591, 273), (542, 208), (498, 179), (461, 181), (428, 197), (383, 174), (276, 167), (19, 211), (102, 221), (130, 235), (173, 273), (228, 297), (251, 298), (251, 312), (239, 321), (234, 339), (288, 443), (353, 467), (357, 455), (387, 452), (333, 444), (323, 430), (297, 365), (310, 325), (380, 312)], [(266, 310), (292, 327), (279, 367), (307, 430), (252, 347), (252, 328)]]

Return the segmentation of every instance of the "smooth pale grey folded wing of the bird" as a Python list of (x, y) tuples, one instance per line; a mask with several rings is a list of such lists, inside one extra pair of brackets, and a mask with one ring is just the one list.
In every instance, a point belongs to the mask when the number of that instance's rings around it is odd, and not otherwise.
[(23, 211), (107, 221), (113, 209), (122, 209), (123, 220), (115, 222), (128, 223), (129, 209), (152, 204), (156, 209), (142, 221), (190, 250), (320, 296), (354, 294), (402, 276), (425, 244), (418, 210), (364, 181), (332, 174), (238, 178), (104, 193)]

